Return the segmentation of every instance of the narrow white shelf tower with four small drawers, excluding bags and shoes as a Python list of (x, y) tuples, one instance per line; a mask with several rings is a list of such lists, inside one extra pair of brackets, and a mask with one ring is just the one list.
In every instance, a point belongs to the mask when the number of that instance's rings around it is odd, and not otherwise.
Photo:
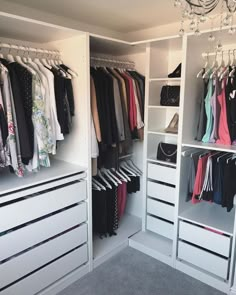
[(160, 142), (178, 143), (179, 134), (164, 129), (179, 107), (162, 106), (160, 96), (164, 85), (181, 85), (181, 78), (168, 78), (168, 74), (182, 62), (182, 39), (150, 42), (146, 55), (143, 231), (132, 237), (130, 245), (173, 265), (178, 163), (157, 160), (157, 147)]

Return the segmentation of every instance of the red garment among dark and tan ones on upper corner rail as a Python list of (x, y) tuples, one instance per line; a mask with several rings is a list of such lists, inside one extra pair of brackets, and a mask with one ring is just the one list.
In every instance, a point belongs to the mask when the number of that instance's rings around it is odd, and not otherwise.
[(134, 96), (134, 85), (132, 78), (126, 73), (122, 73), (123, 77), (125, 77), (129, 82), (129, 123), (130, 129), (133, 131), (137, 127), (137, 109), (135, 104), (135, 96)]

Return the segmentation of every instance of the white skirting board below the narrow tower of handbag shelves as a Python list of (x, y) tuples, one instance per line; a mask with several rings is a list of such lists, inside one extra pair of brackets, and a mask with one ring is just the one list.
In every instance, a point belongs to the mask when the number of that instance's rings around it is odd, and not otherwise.
[(144, 253), (146, 255), (149, 255), (149, 256), (151, 256), (151, 257), (153, 257), (153, 258), (155, 258), (155, 259), (157, 259), (157, 260), (159, 260), (159, 261), (161, 261), (161, 262), (163, 262), (165, 264), (168, 264), (169, 266), (172, 266), (172, 264), (173, 264), (173, 259), (171, 257), (163, 255), (158, 251), (154, 251), (154, 250), (152, 250), (152, 249), (150, 249), (150, 248), (148, 248), (148, 247), (146, 247), (146, 246), (144, 246), (144, 245), (142, 245), (142, 244), (140, 244), (140, 243), (138, 243), (138, 242), (136, 242), (136, 241), (134, 241), (132, 239), (129, 240), (129, 246), (131, 248), (134, 248), (134, 249), (136, 249), (136, 250), (138, 250), (138, 251), (140, 251), (140, 252), (142, 252), (142, 253)]

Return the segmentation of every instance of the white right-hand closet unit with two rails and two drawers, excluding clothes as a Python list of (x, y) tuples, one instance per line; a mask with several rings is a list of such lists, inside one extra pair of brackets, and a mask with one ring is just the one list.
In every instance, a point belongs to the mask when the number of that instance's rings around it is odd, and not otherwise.
[[(216, 33), (223, 49), (234, 49), (227, 31)], [(202, 53), (214, 52), (214, 45), (207, 40), (208, 33), (199, 38), (184, 38), (186, 50), (183, 67), (185, 80), (181, 101), (180, 128), (181, 150), (200, 148), (203, 151), (227, 151), (235, 153), (235, 147), (195, 141), (199, 114), (199, 98), (203, 95), (203, 80), (197, 79), (204, 60)], [(220, 58), (221, 54), (219, 54)], [(212, 61), (213, 61), (212, 57)], [(221, 205), (209, 202), (192, 204), (187, 197), (187, 159), (179, 151), (177, 169), (179, 183), (178, 233), (176, 239), (176, 268), (194, 278), (229, 293), (235, 264), (235, 208), (227, 212)], [(231, 181), (234, 181), (232, 179)]]

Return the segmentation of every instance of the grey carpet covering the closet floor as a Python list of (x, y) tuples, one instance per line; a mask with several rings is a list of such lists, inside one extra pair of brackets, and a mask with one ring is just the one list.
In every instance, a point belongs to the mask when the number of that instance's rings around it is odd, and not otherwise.
[(222, 295), (139, 251), (126, 248), (58, 295)]

